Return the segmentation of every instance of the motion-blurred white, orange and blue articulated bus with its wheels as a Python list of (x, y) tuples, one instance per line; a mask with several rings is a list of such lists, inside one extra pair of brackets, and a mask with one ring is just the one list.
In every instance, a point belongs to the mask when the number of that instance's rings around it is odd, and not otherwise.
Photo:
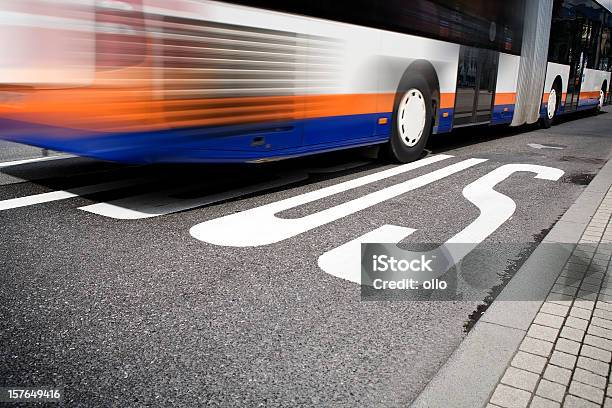
[(261, 162), (610, 103), (612, 1), (8, 0), (0, 138)]

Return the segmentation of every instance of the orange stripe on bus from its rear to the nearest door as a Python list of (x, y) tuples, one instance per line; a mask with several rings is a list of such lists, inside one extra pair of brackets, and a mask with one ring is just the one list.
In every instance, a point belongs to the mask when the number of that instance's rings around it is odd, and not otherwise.
[[(1, 89), (0, 89), (1, 92)], [(161, 92), (163, 96), (164, 93)], [(395, 93), (155, 99), (151, 88), (81, 88), (26, 91), (0, 104), (0, 116), (87, 131), (147, 131), (328, 116), (388, 113)], [(443, 93), (441, 108), (455, 95)]]

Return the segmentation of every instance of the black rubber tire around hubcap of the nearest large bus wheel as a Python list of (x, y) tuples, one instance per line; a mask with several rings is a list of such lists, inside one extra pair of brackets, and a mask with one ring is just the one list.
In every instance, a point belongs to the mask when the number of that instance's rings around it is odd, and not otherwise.
[[(418, 143), (412, 147), (404, 144), (399, 136), (398, 130), (398, 108), (403, 96), (410, 89), (417, 89), (423, 95), (425, 100), (425, 125), (423, 127), (423, 133)], [(383, 147), (383, 155), (392, 161), (400, 163), (408, 163), (415, 161), (420, 158), (425, 150), (425, 145), (431, 134), (433, 124), (433, 103), (432, 103), (432, 91), (429, 89), (429, 84), (420, 74), (408, 74), (402, 79), (400, 86), (398, 87), (397, 93), (395, 94), (395, 102), (393, 104), (393, 115), (391, 116), (391, 138), (389, 142)]]

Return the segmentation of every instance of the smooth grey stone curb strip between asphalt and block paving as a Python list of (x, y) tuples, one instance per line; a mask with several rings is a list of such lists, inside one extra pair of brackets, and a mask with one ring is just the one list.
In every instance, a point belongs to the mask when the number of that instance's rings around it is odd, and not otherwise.
[[(410, 405), (484, 407), (574, 246), (612, 185), (612, 158), (565, 212)], [(561, 245), (559, 245), (561, 244)], [(519, 296), (520, 295), (520, 296)], [(512, 300), (512, 299), (541, 300)]]

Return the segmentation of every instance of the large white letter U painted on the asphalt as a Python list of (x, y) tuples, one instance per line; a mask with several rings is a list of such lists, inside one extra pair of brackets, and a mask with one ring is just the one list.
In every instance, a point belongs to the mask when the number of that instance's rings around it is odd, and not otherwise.
[(194, 238), (215, 245), (251, 247), (273, 244), (487, 161), (486, 159), (464, 160), (302, 218), (283, 219), (276, 216), (279, 212), (424, 167), (450, 157), (452, 156), (439, 155), (429, 157), (241, 213), (216, 218), (193, 226), (189, 232)]

